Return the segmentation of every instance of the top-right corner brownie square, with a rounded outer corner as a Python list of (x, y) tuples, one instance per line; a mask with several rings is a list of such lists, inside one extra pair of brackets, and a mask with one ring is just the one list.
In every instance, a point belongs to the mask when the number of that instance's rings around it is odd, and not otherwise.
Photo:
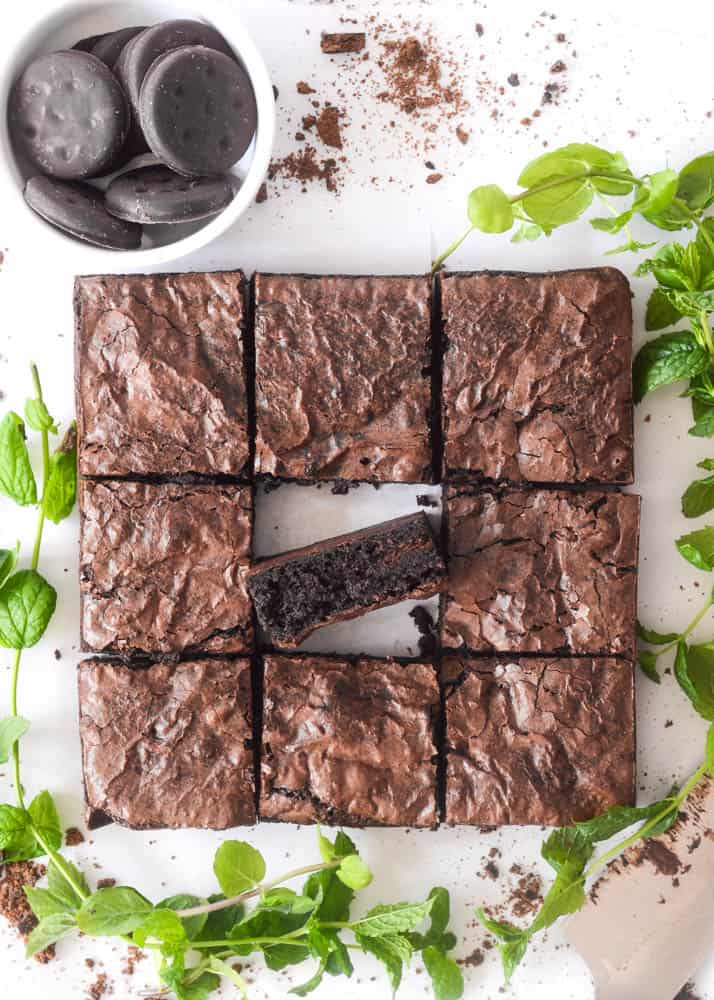
[(631, 483), (627, 279), (599, 267), (439, 282), (444, 475)]

